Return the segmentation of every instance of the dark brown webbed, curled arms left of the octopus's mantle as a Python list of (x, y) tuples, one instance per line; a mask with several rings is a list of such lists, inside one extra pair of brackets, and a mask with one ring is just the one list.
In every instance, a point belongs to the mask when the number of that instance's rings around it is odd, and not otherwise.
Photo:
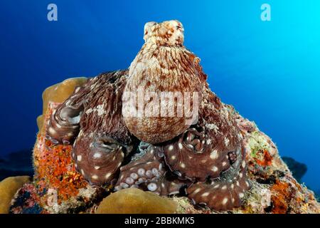
[[(122, 120), (122, 93), (127, 71), (102, 73), (87, 83), (60, 105), (49, 123), (48, 137), (63, 143), (73, 143), (75, 167), (92, 185), (104, 185), (117, 177), (120, 166), (132, 150), (133, 138)], [(68, 123), (57, 128), (63, 110), (78, 108), (67, 114), (78, 115), (76, 124)], [(53, 121), (57, 120), (57, 121)], [(49, 129), (50, 129), (49, 128)], [(55, 133), (55, 134), (52, 134)], [(72, 135), (71, 135), (72, 134)]]

